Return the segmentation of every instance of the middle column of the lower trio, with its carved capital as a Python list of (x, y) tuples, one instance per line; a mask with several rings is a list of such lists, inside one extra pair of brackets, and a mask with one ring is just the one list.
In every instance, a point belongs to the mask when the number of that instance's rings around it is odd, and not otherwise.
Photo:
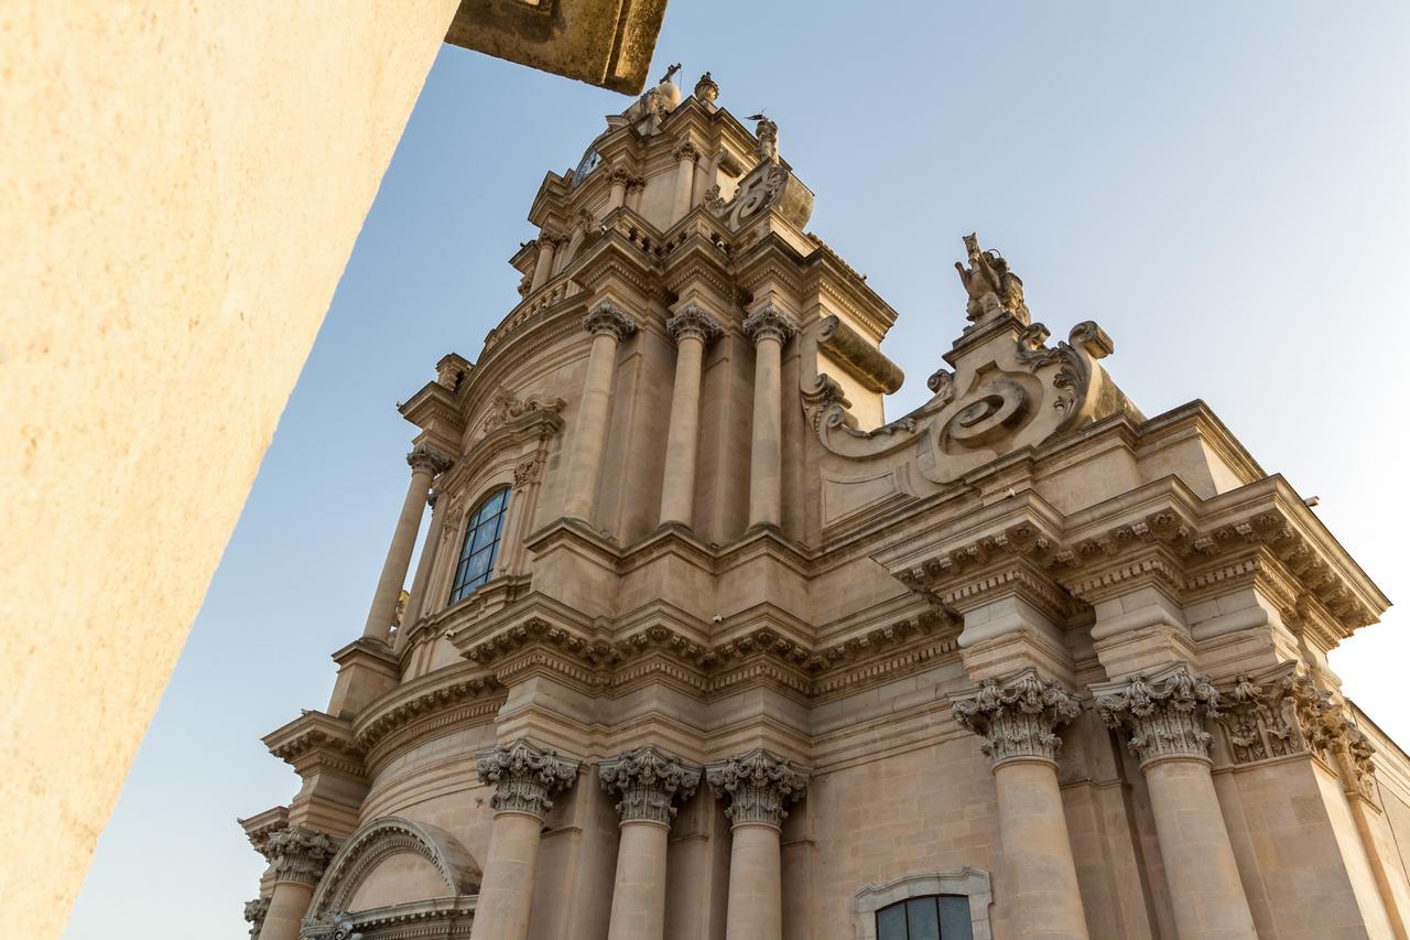
[(603, 761), (602, 788), (620, 793), (622, 819), (612, 922), (608, 940), (663, 940), (666, 936), (666, 850), (675, 800), (699, 785), (699, 768), (647, 745)]

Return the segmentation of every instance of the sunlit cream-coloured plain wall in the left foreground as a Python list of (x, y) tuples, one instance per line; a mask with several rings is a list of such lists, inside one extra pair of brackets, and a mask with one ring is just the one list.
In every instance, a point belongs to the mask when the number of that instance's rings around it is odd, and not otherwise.
[(0, 13), (11, 936), (63, 926), (455, 7)]

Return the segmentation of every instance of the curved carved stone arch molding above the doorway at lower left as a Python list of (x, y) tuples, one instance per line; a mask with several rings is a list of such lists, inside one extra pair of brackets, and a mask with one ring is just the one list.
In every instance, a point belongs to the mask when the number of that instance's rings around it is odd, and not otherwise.
[(384, 816), (352, 833), (329, 862), (309, 905), (309, 917), (347, 910), (378, 865), (400, 854), (420, 855), (434, 865), (446, 881), (447, 895), (479, 893), (479, 865), (454, 836), (426, 823)]

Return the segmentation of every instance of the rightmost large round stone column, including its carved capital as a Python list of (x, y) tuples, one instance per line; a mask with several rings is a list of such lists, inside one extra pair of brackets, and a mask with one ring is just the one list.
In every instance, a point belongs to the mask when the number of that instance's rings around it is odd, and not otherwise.
[(1253, 915), (1210, 775), (1211, 738), (1203, 725), (1218, 707), (1214, 686), (1182, 662), (1094, 685), (1091, 693), (1097, 713), (1129, 734), (1141, 759), (1180, 940), (1253, 940)]

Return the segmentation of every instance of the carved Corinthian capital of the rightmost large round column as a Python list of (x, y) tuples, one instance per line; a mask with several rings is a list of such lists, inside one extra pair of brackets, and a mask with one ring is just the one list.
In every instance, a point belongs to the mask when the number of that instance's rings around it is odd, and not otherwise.
[(1153, 673), (1091, 686), (1101, 720), (1131, 734), (1128, 747), (1141, 764), (1165, 758), (1210, 759), (1213, 738), (1206, 718), (1218, 717), (1220, 693), (1208, 676), (1183, 662)]

